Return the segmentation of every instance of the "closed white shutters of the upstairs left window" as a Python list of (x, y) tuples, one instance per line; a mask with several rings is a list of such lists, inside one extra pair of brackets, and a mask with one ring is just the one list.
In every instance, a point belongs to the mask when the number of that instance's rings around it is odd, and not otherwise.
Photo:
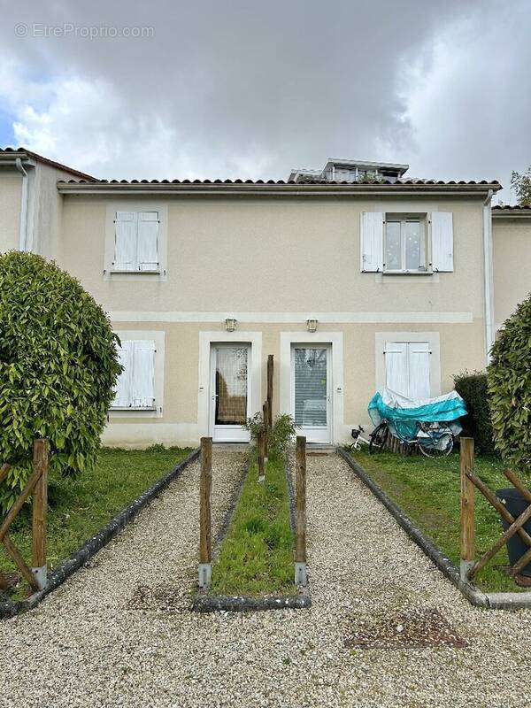
[(158, 273), (158, 212), (116, 212), (113, 271)]

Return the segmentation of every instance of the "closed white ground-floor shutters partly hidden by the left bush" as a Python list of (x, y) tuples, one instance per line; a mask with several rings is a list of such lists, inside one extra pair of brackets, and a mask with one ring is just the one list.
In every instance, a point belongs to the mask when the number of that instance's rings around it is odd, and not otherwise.
[(155, 342), (126, 340), (119, 347), (119, 375), (113, 409), (155, 410)]

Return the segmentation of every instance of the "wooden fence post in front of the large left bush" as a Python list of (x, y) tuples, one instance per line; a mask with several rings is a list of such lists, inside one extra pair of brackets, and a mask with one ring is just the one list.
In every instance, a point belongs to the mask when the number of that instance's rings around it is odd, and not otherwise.
[(39, 438), (34, 442), (34, 471), (41, 476), (33, 493), (33, 560), (32, 573), (39, 588), (46, 587), (46, 526), (48, 519), (48, 441)]

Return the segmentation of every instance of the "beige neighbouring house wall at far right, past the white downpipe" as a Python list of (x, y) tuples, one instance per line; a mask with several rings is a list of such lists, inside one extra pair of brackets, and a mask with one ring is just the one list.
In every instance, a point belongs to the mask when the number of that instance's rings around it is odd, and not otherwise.
[(493, 212), (496, 330), (531, 292), (531, 212), (527, 217)]

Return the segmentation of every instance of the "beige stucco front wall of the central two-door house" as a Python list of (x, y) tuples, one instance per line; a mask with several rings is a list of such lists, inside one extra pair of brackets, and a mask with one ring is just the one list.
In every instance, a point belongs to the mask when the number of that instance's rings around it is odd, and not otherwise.
[[(110, 214), (139, 204), (160, 213), (161, 272), (109, 273)], [(266, 395), (268, 354), (278, 412), (289, 408), (289, 343), (329, 343), (335, 443), (368, 423), (366, 404), (385, 370), (382, 342), (427, 342), (430, 393), (449, 391), (453, 374), (485, 366), (481, 204), (443, 196), (65, 196), (60, 265), (110, 312), (119, 334), (164, 341), (164, 357), (155, 355), (164, 370), (156, 412), (111, 412), (105, 442), (196, 444), (208, 435), (207, 344), (227, 338), (253, 342), (251, 358), (259, 351), (252, 412)], [(360, 272), (362, 212), (437, 211), (453, 214), (452, 273)], [(230, 316), (238, 322), (228, 334)], [(309, 317), (319, 319), (315, 334)]]

